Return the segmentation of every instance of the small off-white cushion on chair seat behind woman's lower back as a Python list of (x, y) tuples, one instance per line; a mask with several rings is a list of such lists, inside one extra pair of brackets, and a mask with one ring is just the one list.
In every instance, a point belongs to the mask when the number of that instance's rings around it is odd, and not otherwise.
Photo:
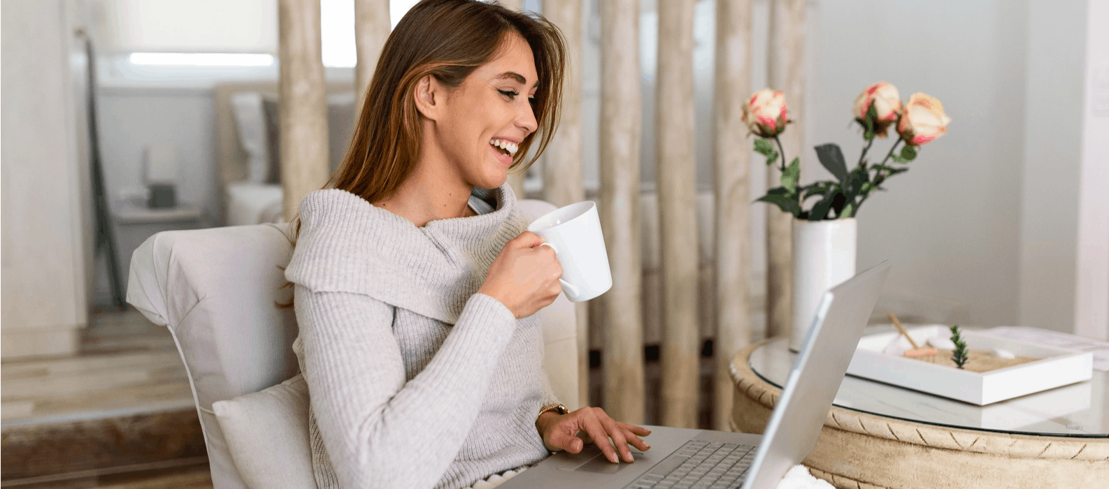
[(316, 487), (308, 449), (308, 385), (302, 375), (216, 401), (212, 409), (247, 487)]

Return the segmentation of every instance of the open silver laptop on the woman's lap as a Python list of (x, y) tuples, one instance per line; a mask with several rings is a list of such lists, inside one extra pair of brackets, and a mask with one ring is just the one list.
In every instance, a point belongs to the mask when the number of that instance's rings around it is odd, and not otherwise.
[(820, 436), (847, 364), (889, 273), (884, 261), (824, 294), (763, 435), (648, 426), (648, 451), (612, 463), (596, 445), (560, 451), (500, 487), (773, 489)]

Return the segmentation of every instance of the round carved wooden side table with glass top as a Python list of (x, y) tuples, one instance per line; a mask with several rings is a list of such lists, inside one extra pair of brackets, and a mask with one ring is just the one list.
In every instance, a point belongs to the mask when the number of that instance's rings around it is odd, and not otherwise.
[[(766, 427), (796, 358), (786, 343), (732, 359), (733, 431)], [(843, 489), (1109, 488), (1107, 430), (1102, 371), (981, 407), (846, 376), (804, 465)]]

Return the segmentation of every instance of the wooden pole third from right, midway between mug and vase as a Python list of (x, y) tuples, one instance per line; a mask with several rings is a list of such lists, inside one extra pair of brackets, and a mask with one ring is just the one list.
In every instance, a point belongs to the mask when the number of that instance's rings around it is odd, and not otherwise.
[(694, 2), (659, 2), (655, 182), (662, 256), (662, 425), (696, 427), (698, 228)]

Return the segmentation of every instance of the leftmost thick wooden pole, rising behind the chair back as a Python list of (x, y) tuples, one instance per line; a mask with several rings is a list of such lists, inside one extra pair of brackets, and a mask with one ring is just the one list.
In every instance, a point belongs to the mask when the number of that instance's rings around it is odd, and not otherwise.
[(281, 37), (281, 182), (284, 216), (329, 176), (327, 86), (319, 40), (319, 0), (278, 0)]

